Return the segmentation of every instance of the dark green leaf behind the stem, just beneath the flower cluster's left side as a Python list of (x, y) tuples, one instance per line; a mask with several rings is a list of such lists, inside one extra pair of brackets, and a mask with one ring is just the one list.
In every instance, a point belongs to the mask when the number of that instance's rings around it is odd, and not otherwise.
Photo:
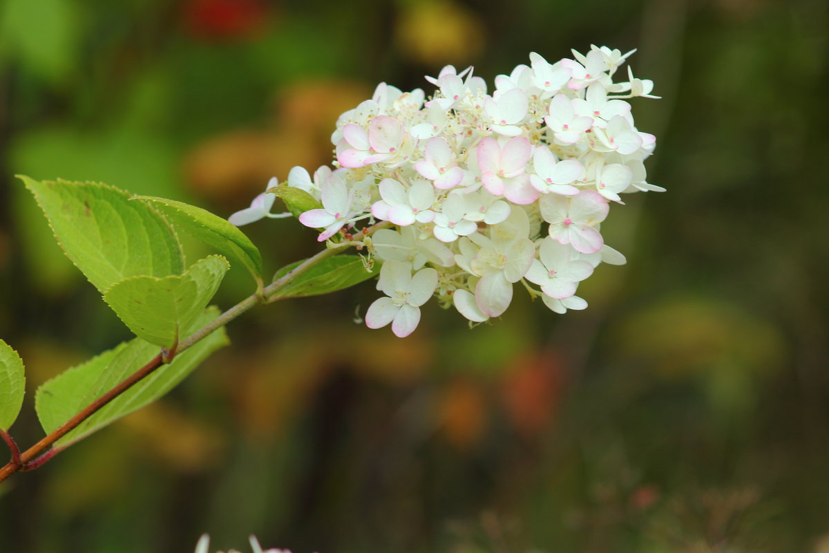
[[(279, 269), (274, 274), (274, 282), (302, 263), (303, 261), (297, 261)], [(377, 264), (371, 267), (371, 271), (366, 270), (359, 255), (337, 255), (308, 269), (308, 272), (279, 290), (272, 298), (302, 298), (336, 292), (375, 277), (379, 270)]]

